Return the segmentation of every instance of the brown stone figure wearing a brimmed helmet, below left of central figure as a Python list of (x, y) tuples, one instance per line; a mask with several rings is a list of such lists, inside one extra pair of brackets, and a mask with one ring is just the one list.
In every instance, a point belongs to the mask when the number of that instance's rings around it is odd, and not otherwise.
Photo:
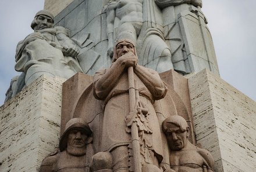
[(59, 141), (59, 151), (51, 153), (41, 164), (40, 172), (89, 172), (93, 156), (90, 127), (81, 118), (73, 118), (66, 123)]

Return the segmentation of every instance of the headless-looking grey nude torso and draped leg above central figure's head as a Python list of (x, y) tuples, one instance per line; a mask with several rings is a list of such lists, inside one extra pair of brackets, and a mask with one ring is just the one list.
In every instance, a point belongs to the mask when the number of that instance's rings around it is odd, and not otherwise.
[(109, 56), (115, 41), (130, 39), (138, 47), (139, 64), (158, 72), (173, 68), (163, 28), (158, 24), (161, 11), (154, 1), (112, 0), (106, 5), (106, 13)]

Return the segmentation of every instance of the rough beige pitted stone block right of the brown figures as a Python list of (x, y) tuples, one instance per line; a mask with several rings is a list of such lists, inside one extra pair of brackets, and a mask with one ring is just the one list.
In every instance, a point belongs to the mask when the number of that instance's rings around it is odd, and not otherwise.
[(215, 172), (255, 171), (256, 103), (205, 69), (190, 76), (189, 89), (197, 142), (214, 156)]

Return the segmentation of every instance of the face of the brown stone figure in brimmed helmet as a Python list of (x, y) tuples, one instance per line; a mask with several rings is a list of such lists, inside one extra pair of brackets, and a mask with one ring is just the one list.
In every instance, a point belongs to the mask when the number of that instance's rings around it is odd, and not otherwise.
[(71, 130), (67, 140), (67, 146), (83, 148), (86, 145), (87, 135), (82, 130)]

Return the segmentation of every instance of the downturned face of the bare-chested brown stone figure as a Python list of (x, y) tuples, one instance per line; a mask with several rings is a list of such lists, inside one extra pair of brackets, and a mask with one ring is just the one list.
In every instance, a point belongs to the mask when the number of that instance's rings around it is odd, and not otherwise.
[(165, 133), (165, 136), (172, 151), (179, 151), (186, 146), (188, 132), (189, 127), (187, 127), (187, 130), (183, 131), (179, 126), (170, 125), (168, 131)]

